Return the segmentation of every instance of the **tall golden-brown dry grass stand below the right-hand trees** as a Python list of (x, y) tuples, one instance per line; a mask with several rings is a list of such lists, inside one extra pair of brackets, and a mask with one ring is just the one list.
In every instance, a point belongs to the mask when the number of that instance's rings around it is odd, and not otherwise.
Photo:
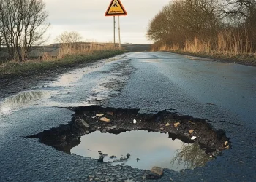
[(184, 47), (178, 44), (154, 47), (152, 50), (188, 52), (197, 55), (220, 56), (222, 58), (238, 58), (256, 60), (256, 52), (252, 52), (252, 41), (244, 31), (221, 31), (216, 39), (203, 40), (199, 36), (186, 39)]

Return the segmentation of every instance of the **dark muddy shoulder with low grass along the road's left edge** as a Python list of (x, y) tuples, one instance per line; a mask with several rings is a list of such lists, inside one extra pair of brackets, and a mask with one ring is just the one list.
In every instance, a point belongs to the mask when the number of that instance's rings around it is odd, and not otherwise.
[(0, 98), (30, 90), (38, 84), (52, 82), (67, 71), (122, 53), (122, 50), (97, 51), (89, 55), (70, 55), (62, 60), (45, 63), (34, 62), (15, 65), (12, 68), (0, 68)]

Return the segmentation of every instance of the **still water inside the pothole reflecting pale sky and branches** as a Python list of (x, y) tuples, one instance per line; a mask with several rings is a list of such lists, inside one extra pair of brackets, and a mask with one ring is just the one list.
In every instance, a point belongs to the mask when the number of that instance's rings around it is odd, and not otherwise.
[[(98, 151), (105, 156), (104, 162), (113, 165), (129, 165), (151, 170), (158, 166), (172, 170), (194, 168), (206, 164), (208, 157), (198, 144), (186, 144), (171, 140), (168, 134), (147, 131), (121, 132), (119, 135), (93, 132), (80, 138), (81, 143), (71, 153), (99, 159)], [(177, 154), (178, 151), (178, 154)], [(127, 158), (127, 154), (130, 156)]]

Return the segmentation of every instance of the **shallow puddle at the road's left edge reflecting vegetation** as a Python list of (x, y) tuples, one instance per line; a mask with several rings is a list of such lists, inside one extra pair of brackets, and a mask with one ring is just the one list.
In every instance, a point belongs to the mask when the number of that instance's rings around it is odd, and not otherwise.
[(31, 102), (45, 98), (48, 92), (33, 91), (33, 92), (20, 92), (10, 98), (6, 98), (0, 103), (0, 116), (10, 113), (15, 108), (28, 106)]

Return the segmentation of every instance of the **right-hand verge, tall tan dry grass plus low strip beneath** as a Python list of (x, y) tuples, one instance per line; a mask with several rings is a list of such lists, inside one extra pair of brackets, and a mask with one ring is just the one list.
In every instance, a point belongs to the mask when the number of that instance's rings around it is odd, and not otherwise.
[(184, 44), (154, 44), (152, 50), (192, 55), (211, 58), (221, 62), (239, 63), (256, 66), (256, 52), (248, 33), (237, 31), (223, 31), (212, 39), (202, 39), (195, 36), (194, 39), (184, 40)]

